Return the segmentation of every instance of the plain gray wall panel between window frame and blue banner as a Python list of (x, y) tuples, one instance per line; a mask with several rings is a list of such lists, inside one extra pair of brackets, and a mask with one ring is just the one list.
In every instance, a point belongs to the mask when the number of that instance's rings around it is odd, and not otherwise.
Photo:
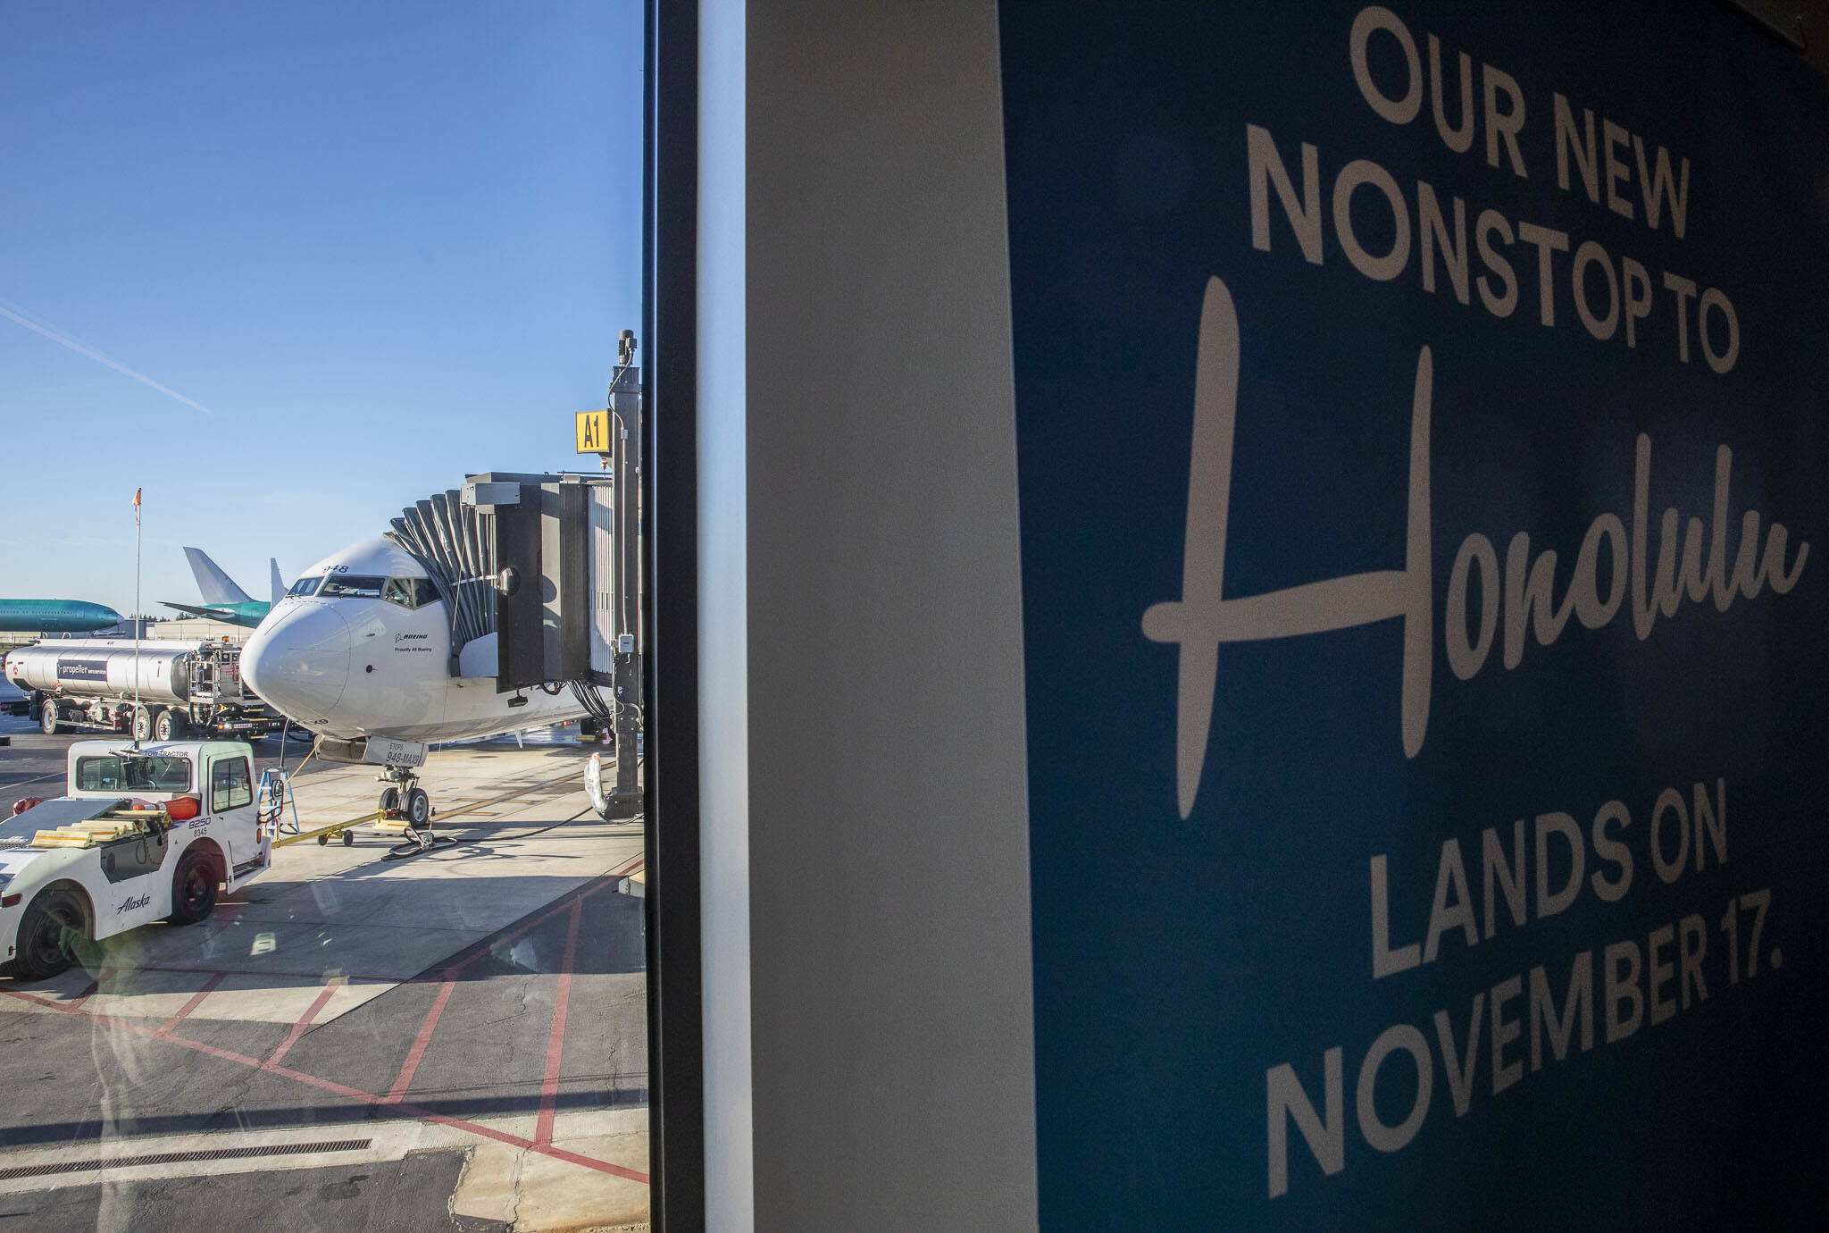
[(755, 1217), (1035, 1224), (988, 2), (748, 9)]

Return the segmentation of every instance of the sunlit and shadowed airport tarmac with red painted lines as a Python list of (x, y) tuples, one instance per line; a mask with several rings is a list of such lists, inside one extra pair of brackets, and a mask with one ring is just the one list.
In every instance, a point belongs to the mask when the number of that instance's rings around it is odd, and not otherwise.
[[(68, 741), (13, 735), (0, 790), (55, 794), (9, 759)], [(307, 838), (207, 922), (0, 979), (0, 1220), (646, 1228), (646, 946), (618, 893), (642, 823), (589, 810), (583, 757), (433, 750), (421, 783), (455, 845), (386, 862), (397, 831)], [(371, 814), (379, 787), (307, 765), (300, 831)]]

